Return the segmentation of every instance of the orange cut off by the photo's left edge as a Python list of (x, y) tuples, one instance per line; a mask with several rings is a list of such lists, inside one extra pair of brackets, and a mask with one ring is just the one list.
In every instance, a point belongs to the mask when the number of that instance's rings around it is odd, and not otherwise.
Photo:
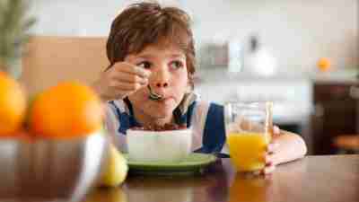
[(13, 136), (21, 126), (26, 112), (26, 96), (22, 86), (0, 72), (0, 136)]

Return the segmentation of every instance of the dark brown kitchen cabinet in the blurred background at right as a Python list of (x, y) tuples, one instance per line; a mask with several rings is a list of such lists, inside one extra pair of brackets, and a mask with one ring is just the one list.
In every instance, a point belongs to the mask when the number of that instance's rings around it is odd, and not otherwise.
[(335, 154), (334, 137), (357, 133), (357, 101), (351, 96), (355, 82), (314, 83), (312, 119), (314, 154)]

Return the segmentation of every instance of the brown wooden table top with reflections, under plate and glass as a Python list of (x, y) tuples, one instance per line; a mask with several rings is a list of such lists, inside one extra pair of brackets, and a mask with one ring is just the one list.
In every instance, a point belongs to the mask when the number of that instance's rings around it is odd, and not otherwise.
[(203, 176), (129, 176), (115, 189), (94, 189), (84, 202), (282, 202), (359, 201), (359, 155), (307, 156), (267, 177), (233, 171), (229, 159)]

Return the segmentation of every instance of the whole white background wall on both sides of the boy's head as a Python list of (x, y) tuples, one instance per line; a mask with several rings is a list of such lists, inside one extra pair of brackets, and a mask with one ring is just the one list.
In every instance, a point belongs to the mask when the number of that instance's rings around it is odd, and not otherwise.
[[(107, 36), (109, 24), (130, 0), (35, 0), (31, 13), (40, 35)], [(197, 44), (257, 31), (285, 70), (311, 71), (319, 57), (334, 67), (359, 64), (357, 0), (162, 0), (194, 19)], [(209, 4), (210, 3), (210, 4)]]

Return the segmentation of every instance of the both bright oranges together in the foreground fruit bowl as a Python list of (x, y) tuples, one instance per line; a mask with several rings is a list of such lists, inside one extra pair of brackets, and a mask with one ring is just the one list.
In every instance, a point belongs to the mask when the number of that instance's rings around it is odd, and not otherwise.
[(100, 98), (82, 83), (58, 83), (28, 101), (20, 83), (0, 72), (0, 137), (82, 137), (102, 120)]

